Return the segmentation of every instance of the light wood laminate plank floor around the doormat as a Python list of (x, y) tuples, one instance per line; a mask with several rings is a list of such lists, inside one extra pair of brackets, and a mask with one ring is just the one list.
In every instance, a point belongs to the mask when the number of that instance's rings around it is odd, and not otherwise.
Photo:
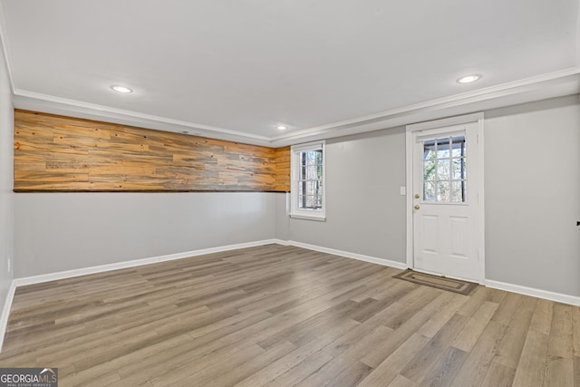
[(579, 386), (580, 308), (268, 245), (16, 290), (0, 366), (61, 386)]

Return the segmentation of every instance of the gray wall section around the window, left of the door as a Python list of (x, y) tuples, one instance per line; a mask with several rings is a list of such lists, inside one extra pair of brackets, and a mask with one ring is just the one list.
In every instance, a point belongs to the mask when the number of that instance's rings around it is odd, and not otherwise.
[(326, 142), (326, 221), (288, 218), (277, 200), (278, 237), (405, 262), (405, 130)]

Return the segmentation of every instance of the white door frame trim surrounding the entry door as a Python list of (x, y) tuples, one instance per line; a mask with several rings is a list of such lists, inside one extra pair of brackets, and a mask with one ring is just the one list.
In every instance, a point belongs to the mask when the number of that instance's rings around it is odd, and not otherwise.
[[(478, 173), (478, 283), (480, 285), (485, 285), (486, 280), (486, 262), (485, 262), (485, 196), (484, 196), (484, 143), (483, 143), (483, 112), (477, 112), (473, 114), (466, 114), (457, 117), (450, 117), (437, 121), (426, 121), (407, 125), (405, 133), (405, 146), (406, 146), (406, 185), (407, 185), (407, 200), (406, 200), (406, 210), (407, 214), (407, 267), (415, 268), (414, 266), (414, 241), (413, 241), (413, 192), (415, 192), (413, 187), (413, 135), (415, 131), (426, 131), (430, 129), (444, 128), (453, 125), (461, 125), (472, 122), (478, 123), (477, 131), (477, 144), (478, 144), (478, 161), (479, 161), (479, 173)], [(469, 151), (469, 150), (468, 150)]]

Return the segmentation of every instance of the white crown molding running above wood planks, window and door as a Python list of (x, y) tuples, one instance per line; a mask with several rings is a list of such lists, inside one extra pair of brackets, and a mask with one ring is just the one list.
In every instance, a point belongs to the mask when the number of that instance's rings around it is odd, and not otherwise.
[(136, 111), (125, 111), (20, 89), (14, 90), (13, 101), (14, 107), (17, 109), (43, 111), (89, 120), (110, 121), (160, 131), (188, 131), (188, 134), (196, 136), (277, 148), (307, 141), (379, 131), (421, 121), (467, 114), (473, 111), (485, 111), (578, 93), (580, 93), (580, 68), (574, 67), (556, 73), (547, 73), (516, 82), (507, 82), (473, 92), (464, 92), (429, 102), (421, 102), (403, 108), (382, 111), (347, 121), (333, 122), (275, 137), (232, 131)]

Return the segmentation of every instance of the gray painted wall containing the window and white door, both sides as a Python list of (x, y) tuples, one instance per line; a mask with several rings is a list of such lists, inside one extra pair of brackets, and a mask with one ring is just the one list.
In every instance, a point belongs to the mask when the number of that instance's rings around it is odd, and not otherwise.
[[(580, 295), (577, 96), (485, 112), (486, 276)], [(278, 237), (405, 262), (404, 129), (329, 141), (326, 222), (286, 216)]]

